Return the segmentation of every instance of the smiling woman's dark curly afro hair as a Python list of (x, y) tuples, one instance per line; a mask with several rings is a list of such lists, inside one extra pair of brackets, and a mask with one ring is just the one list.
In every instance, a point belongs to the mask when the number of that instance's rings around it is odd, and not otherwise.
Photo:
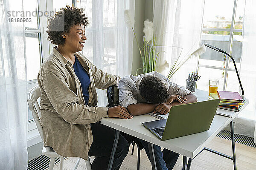
[(88, 18), (84, 14), (83, 8), (66, 6), (61, 8), (54, 17), (51, 17), (47, 26), (48, 40), (52, 44), (64, 45), (65, 39), (61, 37), (63, 33), (69, 33), (70, 28), (77, 24), (88, 26)]

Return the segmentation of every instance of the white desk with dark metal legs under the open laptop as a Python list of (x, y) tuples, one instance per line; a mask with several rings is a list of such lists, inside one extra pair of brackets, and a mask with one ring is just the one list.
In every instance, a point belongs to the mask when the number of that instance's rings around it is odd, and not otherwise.
[[(198, 98), (198, 102), (204, 101), (208, 99), (207, 91), (197, 90), (195, 96)], [(248, 103), (248, 102), (247, 102)], [(241, 108), (241, 110), (245, 107), (245, 105)], [(240, 110), (240, 112), (241, 112)], [(183, 169), (187, 168), (189, 170), (191, 161), (195, 156), (197, 156), (202, 150), (204, 150), (205, 146), (229, 123), (231, 125), (231, 133), (233, 133), (233, 119), (238, 115), (239, 112), (233, 111), (224, 111), (222, 109), (218, 109), (217, 112), (231, 112), (233, 113), (232, 117), (221, 116), (215, 114), (212, 124), (209, 130), (195, 133), (192, 135), (182, 136), (175, 139), (169, 139), (166, 141), (161, 141), (158, 139), (153, 133), (151, 133), (148, 129), (146, 129), (142, 123), (157, 120), (157, 118), (150, 116), (148, 114), (134, 116), (133, 119), (116, 119), (116, 118), (104, 118), (102, 119), (102, 124), (112, 127), (116, 130), (122, 131), (124, 133), (128, 133), (131, 136), (135, 136), (137, 138), (143, 139), (151, 144), (156, 144), (158, 146), (164, 147), (166, 149), (172, 150), (176, 153), (180, 153), (183, 155), (183, 159), (189, 158), (188, 166), (186, 167), (186, 160), (183, 160)], [(236, 170), (236, 157), (235, 157), (235, 147), (234, 141), (233, 143), (233, 155), (234, 157), (229, 156), (229, 159), (233, 159), (234, 169)], [(206, 150), (215, 153), (212, 150), (206, 148)], [(216, 152), (218, 154), (218, 152)], [(221, 155), (227, 157), (225, 155)], [(184, 165), (185, 164), (185, 165)], [(153, 168), (154, 169), (154, 168)]]

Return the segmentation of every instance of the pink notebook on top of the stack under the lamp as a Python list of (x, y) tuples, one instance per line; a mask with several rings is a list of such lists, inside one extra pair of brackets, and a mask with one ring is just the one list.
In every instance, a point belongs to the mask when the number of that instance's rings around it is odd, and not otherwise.
[(221, 99), (221, 101), (224, 101), (224, 102), (235, 102), (235, 103), (243, 102), (243, 99), (241, 98), (238, 92), (218, 91), (218, 96)]

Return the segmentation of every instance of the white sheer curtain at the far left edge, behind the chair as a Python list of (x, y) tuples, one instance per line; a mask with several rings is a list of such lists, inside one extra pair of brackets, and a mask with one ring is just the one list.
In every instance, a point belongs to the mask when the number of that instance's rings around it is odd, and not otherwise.
[(22, 0), (0, 0), (0, 170), (26, 170), (26, 55), (23, 23), (7, 11), (23, 11)]

